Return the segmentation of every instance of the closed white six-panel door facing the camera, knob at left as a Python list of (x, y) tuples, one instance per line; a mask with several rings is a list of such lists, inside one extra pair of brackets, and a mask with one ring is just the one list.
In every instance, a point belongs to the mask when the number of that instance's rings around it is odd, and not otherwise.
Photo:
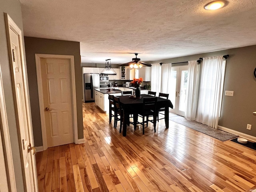
[(70, 60), (41, 58), (47, 146), (73, 143)]

